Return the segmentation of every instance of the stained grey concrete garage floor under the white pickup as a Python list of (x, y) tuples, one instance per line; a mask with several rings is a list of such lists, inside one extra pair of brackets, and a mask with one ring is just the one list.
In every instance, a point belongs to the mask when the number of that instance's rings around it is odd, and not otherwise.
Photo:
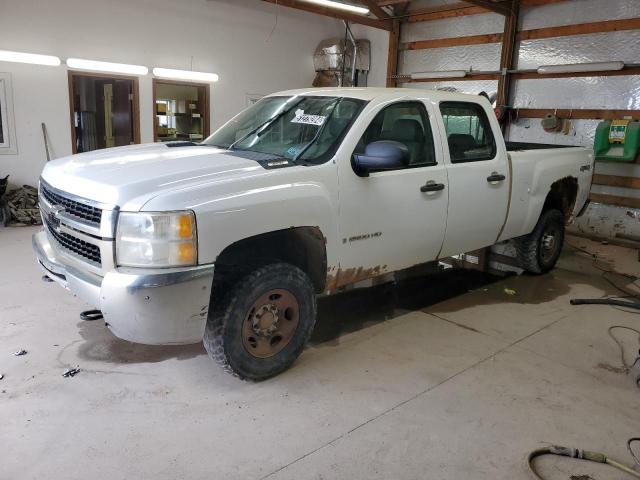
[[(598, 268), (636, 273), (635, 251), (594, 261), (567, 247), (541, 277), (449, 271), (323, 299), (309, 348), (256, 384), (200, 345), (135, 345), (80, 322), (83, 305), (40, 281), (33, 231), (0, 230), (1, 478), (524, 479), (527, 452), (550, 443), (631, 463), (640, 390), (606, 329), (639, 317), (569, 299), (619, 294), (609, 281), (630, 280)], [(548, 478), (626, 478), (539, 464)]]

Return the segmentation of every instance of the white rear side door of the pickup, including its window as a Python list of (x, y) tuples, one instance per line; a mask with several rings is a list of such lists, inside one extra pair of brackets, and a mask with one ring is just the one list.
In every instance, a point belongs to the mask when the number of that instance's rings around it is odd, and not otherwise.
[(441, 102), (440, 113), (450, 159), (441, 253), (448, 256), (495, 243), (507, 214), (511, 179), (506, 152), (493, 134), (499, 126), (491, 110), (475, 102)]

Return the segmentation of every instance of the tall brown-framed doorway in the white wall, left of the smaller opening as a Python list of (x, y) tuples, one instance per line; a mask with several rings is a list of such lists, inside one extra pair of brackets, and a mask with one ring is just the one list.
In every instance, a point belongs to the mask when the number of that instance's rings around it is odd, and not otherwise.
[(138, 79), (69, 72), (73, 153), (140, 143)]

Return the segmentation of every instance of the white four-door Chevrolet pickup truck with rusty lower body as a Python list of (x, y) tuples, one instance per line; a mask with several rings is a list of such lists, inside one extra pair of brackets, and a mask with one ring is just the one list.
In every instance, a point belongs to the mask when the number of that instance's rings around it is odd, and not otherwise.
[(481, 96), (287, 91), (200, 144), (50, 162), (33, 246), (116, 336), (204, 340), (258, 380), (301, 353), (317, 294), (510, 239), (553, 268), (592, 170), (586, 148), (505, 144)]

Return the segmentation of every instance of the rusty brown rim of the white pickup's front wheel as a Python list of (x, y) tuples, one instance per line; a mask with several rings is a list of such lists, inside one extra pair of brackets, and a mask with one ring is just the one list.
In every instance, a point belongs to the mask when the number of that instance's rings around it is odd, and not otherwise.
[(253, 302), (242, 324), (242, 345), (256, 358), (269, 358), (286, 347), (298, 328), (300, 306), (281, 288), (269, 290)]

